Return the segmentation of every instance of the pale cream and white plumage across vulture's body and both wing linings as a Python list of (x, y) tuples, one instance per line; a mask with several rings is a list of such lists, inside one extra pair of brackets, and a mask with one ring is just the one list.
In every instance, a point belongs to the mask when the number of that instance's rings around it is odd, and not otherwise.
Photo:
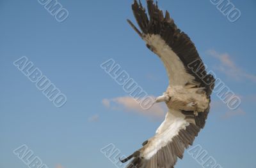
[[(171, 97), (171, 101), (174, 97), (175, 99), (173, 100), (176, 100), (178, 104), (179, 102), (188, 102), (188, 107), (184, 106), (184, 109), (192, 108), (189, 103), (193, 100), (196, 102), (200, 112), (204, 111), (209, 104), (209, 100), (205, 93), (198, 92), (202, 88), (186, 87), (187, 83), (191, 85), (198, 85), (198, 83), (194, 81), (195, 77), (186, 71), (179, 56), (173, 52), (172, 48), (159, 35), (146, 34), (143, 39), (163, 61), (168, 73), (169, 87), (165, 94)], [(172, 106), (173, 108), (171, 108)], [(157, 129), (156, 135), (149, 139), (148, 144), (141, 150), (142, 157), (147, 160), (172, 142), (173, 137), (177, 136), (181, 129), (186, 129), (189, 125), (188, 120), (185, 120), (186, 116), (181, 113), (179, 108), (175, 108), (175, 104), (170, 104), (168, 107), (170, 111), (168, 111), (164, 122)]]

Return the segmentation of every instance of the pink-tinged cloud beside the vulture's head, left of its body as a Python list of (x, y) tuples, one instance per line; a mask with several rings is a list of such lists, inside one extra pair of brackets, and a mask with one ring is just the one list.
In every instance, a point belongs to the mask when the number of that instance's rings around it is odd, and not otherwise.
[(114, 99), (103, 99), (102, 104), (106, 108), (118, 111), (132, 111), (139, 115), (148, 116), (153, 119), (162, 120), (168, 111), (166, 105), (163, 104), (154, 104), (150, 109), (143, 109), (140, 106), (140, 103), (137, 102), (132, 97), (116, 97)]

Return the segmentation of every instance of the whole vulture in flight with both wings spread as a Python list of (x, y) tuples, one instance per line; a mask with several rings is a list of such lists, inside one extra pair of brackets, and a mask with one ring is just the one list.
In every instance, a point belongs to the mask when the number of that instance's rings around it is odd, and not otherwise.
[(147, 0), (147, 7), (148, 15), (140, 1), (132, 4), (141, 31), (127, 21), (166, 67), (169, 86), (156, 102), (166, 102), (169, 110), (156, 135), (120, 161), (132, 159), (127, 168), (173, 168), (205, 126), (215, 79), (207, 74), (194, 43), (177, 28), (168, 11), (164, 15), (153, 0)]

